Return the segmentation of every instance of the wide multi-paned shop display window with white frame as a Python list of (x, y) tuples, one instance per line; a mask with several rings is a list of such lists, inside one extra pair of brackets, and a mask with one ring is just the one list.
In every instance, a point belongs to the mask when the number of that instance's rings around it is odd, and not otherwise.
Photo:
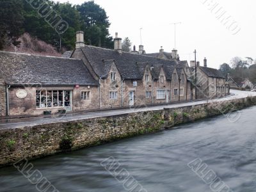
[(71, 106), (71, 92), (63, 90), (36, 91), (36, 108), (58, 108)]

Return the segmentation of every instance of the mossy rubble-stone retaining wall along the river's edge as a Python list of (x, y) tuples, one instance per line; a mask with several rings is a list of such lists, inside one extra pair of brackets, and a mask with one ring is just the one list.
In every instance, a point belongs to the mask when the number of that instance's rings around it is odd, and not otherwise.
[(255, 104), (256, 97), (247, 97), (179, 108), (145, 110), (122, 115), (2, 129), (0, 130), (0, 166), (12, 164), (24, 158), (35, 159), (155, 132), (214, 115), (226, 114), (232, 122), (239, 118), (237, 110)]

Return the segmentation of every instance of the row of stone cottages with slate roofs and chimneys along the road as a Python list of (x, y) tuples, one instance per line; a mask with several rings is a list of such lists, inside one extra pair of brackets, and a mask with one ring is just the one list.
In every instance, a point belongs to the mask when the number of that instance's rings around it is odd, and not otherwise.
[[(195, 99), (195, 70), (187, 61), (179, 60), (177, 51), (168, 55), (145, 54), (142, 45), (138, 52), (122, 52), (122, 39), (117, 34), (113, 50), (85, 45), (82, 31), (77, 32), (76, 50), (66, 52), (65, 58), (2, 51), (0, 115), (127, 108)], [(216, 87), (216, 92), (225, 86), (225, 92), (213, 94), (208, 90), (202, 98), (227, 95), (223, 76), (212, 76), (208, 71), (202, 68), (209, 85)]]

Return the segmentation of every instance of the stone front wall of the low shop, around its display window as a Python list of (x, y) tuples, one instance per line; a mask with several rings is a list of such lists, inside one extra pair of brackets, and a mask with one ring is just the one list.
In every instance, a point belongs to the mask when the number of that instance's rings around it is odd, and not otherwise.
[[(17, 97), (16, 93), (19, 90), (25, 90), (27, 96), (24, 99)], [(58, 113), (58, 111), (66, 109), (65, 107), (51, 107), (51, 108), (36, 108), (36, 91), (70, 91), (71, 92), (71, 104), (72, 111), (90, 110), (99, 108), (99, 91), (98, 87), (94, 86), (79, 86), (74, 88), (70, 86), (61, 87), (11, 87), (9, 90), (9, 115), (42, 115), (44, 111), (51, 111), (51, 113)], [(88, 100), (84, 100), (81, 97), (81, 92), (88, 92)]]

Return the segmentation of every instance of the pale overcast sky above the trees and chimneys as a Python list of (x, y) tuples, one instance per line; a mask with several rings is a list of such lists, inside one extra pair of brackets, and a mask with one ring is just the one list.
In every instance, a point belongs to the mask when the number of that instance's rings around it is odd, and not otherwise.
[[(69, 2), (81, 4), (84, 0)], [(176, 45), (180, 60), (193, 60), (195, 49), (201, 64), (204, 57), (207, 58), (208, 67), (218, 68), (222, 63), (230, 63), (234, 56), (255, 59), (256, 1), (212, 2), (218, 3), (213, 10), (211, 0), (95, 0), (109, 16), (112, 36), (115, 36), (115, 32), (121, 38), (128, 36), (138, 49), (140, 28), (143, 28), (142, 44), (147, 53), (158, 52), (161, 46), (164, 51), (172, 51), (175, 45), (171, 23), (181, 22), (177, 26)], [(217, 19), (219, 13), (224, 14)], [(221, 19), (227, 17), (230, 22), (225, 26)]]

